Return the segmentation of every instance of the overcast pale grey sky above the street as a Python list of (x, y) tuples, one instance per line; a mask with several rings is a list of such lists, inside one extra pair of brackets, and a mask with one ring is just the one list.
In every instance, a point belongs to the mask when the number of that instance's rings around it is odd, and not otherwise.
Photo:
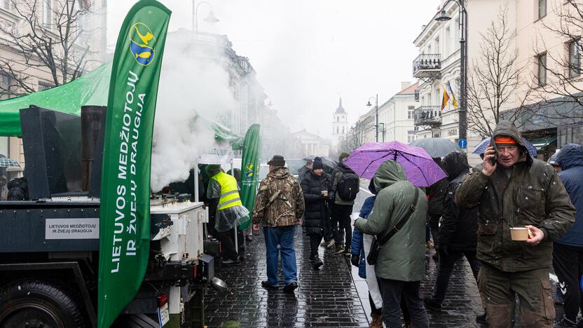
[[(191, 29), (192, 1), (161, 0), (172, 11), (170, 31)], [(332, 113), (342, 96), (349, 122), (414, 81), (413, 40), (437, 11), (439, 0), (208, 0), (220, 22), (199, 29), (226, 34), (249, 57), (257, 78), (292, 132), (329, 137)], [(200, 3), (200, 1), (196, 1)], [(108, 45), (113, 48), (125, 14), (135, 1), (110, 0)]]

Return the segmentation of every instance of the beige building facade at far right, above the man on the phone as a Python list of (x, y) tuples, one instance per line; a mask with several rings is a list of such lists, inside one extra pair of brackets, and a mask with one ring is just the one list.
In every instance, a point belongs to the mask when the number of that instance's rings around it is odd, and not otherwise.
[(551, 30), (574, 31), (575, 24), (583, 23), (571, 1), (472, 0), (467, 11), (470, 60), (481, 55), (481, 32), (505, 11), (505, 24), (516, 34), (509, 49), (518, 49), (516, 67), (524, 81), (505, 104), (505, 116), (524, 112), (526, 105), (528, 114), (517, 125), (537, 146), (538, 157), (544, 160), (565, 144), (582, 143), (583, 107), (573, 100), (583, 88), (580, 33)]

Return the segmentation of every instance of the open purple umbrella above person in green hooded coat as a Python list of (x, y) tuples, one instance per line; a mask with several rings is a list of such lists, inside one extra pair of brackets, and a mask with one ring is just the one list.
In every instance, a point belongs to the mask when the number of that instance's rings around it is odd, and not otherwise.
[(372, 179), (380, 164), (397, 160), (407, 180), (415, 186), (431, 186), (446, 174), (423, 148), (402, 142), (369, 142), (352, 151), (344, 164), (364, 179)]

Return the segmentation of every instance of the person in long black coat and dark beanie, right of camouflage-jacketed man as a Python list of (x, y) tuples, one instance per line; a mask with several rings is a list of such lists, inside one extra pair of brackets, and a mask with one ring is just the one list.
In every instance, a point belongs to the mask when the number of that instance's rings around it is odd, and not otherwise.
[(310, 261), (316, 269), (323, 264), (318, 257), (318, 247), (322, 242), (324, 225), (329, 217), (327, 200), (331, 196), (330, 178), (324, 174), (323, 169), (322, 159), (314, 158), (312, 170), (307, 172), (301, 181), (306, 203), (306, 212), (303, 213), (303, 217), (306, 220), (306, 233), (310, 236)]

